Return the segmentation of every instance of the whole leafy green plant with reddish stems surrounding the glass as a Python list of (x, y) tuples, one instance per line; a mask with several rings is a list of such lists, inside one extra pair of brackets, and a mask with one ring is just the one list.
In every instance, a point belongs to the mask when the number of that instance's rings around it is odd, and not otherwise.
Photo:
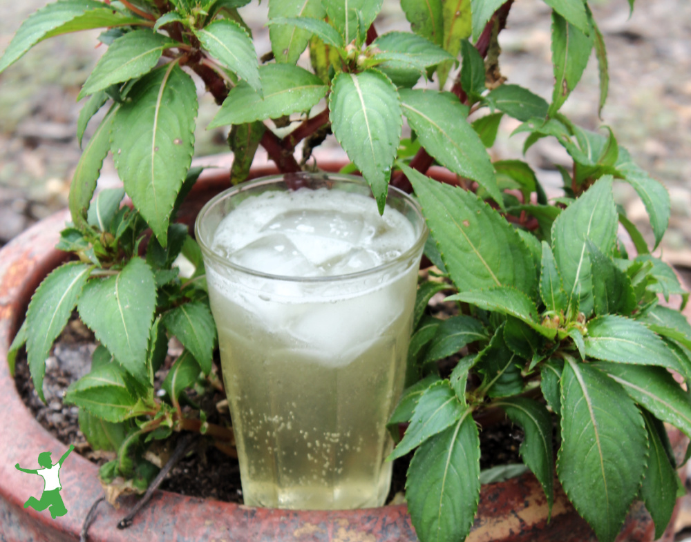
[[(0, 71), (42, 39), (108, 27), (99, 38), (108, 50), (80, 94), (89, 98), (79, 139), (97, 110), (108, 113), (77, 166), (73, 223), (59, 244), (79, 261), (41, 284), (10, 356), (13, 364), (26, 342), (40, 393), (50, 344), (77, 307), (101, 346), (91, 374), (66, 400), (79, 406), (91, 444), (117, 451), (102, 469), (105, 481), (119, 475), (146, 485), (155, 467), (144, 452), (173, 431), (210, 434), (220, 446), (231, 438), (228, 429), (207, 423), (203, 409), (189, 418), (180, 408), (187, 387), (219, 385), (198, 247), (174, 223), (199, 173), (189, 171), (194, 74), (220, 105), (212, 126), (232, 125), (233, 182), (247, 177), (259, 145), (281, 171), (298, 171), (296, 146), (305, 141), (304, 164), (332, 132), (380, 209), (388, 184), (412, 184), (422, 204), (435, 280), (419, 285), (410, 387), (391, 420), (410, 423), (392, 458), (417, 448), (406, 498), (420, 539), (468, 534), (480, 494), (473, 416), (487, 409), (503, 409), (524, 430), (523, 461), (550, 505), (553, 415), (561, 428), (558, 478), (598, 539), (614, 540), (636, 498), (645, 501), (660, 536), (679, 487), (661, 422), (691, 436), (691, 401), (668, 369), (691, 377), (691, 327), (659, 297), (681, 294), (685, 304), (688, 293), (616, 206), (612, 183), (636, 189), (655, 246), (668, 226), (669, 195), (632, 162), (612, 130), (589, 132), (559, 112), (592, 50), (603, 106), (607, 57), (587, 3), (546, 2), (553, 8), (551, 104), (503, 84), (498, 73), (497, 37), (512, 0), (401, 0), (413, 32), (382, 36), (372, 24), (382, 0), (269, 0), (273, 58), (261, 65), (237, 9), (247, 0), (59, 0), (23, 23)], [(305, 48), (312, 71), (295, 64)], [(458, 57), (461, 69), (447, 83)], [(414, 89), (423, 77), (451, 92)], [(325, 97), (328, 106), (320, 109)], [(550, 204), (525, 162), (491, 162), (486, 147), (502, 115), (522, 122), (515, 133), (529, 134), (524, 150), (542, 137), (566, 149), (574, 166), (560, 169), (565, 197)], [(410, 139), (401, 139), (402, 118), (413, 130)], [(269, 119), (296, 126), (278, 137)], [(108, 151), (134, 209), (120, 207), (119, 190), (91, 201)], [(457, 186), (424, 175), (434, 162), (457, 174)], [(617, 239), (618, 224), (637, 255)], [(153, 235), (142, 244), (147, 229)], [(180, 253), (196, 264), (191, 277), (173, 267)], [(447, 300), (457, 302), (458, 316), (426, 316), (430, 298), (448, 290), (455, 291)], [(161, 399), (154, 377), (168, 334), (185, 351)], [(442, 378), (437, 360), (459, 352)]]

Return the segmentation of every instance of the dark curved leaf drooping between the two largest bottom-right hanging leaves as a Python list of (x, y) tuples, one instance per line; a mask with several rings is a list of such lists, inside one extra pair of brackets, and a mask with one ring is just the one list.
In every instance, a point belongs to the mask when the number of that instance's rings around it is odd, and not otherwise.
[(496, 406), (504, 409), (513, 423), (520, 425), (525, 438), (518, 449), (523, 463), (530, 467), (542, 485), (551, 514), (554, 502), (554, 475), (552, 456), (552, 420), (547, 409), (524, 397), (505, 398)]

